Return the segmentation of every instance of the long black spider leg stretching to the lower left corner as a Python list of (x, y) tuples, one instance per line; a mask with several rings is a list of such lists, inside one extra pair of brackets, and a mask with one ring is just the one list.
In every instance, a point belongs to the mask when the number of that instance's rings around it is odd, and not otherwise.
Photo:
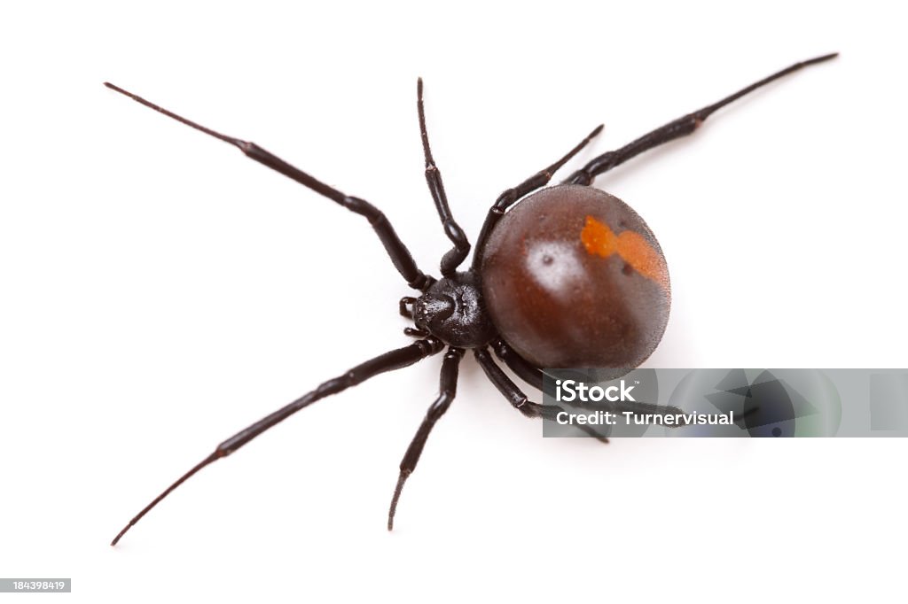
[(123, 527), (123, 531), (120, 531), (117, 536), (114, 537), (114, 541), (111, 541), (111, 545), (116, 545), (117, 541), (120, 541), (126, 531), (129, 531), (136, 522), (140, 521), (148, 511), (151, 511), (151, 509), (161, 502), (164, 497), (170, 494), (170, 492), (183, 484), (183, 482), (186, 482), (192, 474), (199, 472), (199, 470), (202, 470), (206, 465), (233, 453), (242, 447), (243, 444), (249, 443), (256, 436), (262, 434), (275, 424), (281, 423), (292, 414), (300, 411), (303, 407), (309, 406), (325, 396), (336, 395), (342, 390), (346, 390), (350, 386), (358, 385), (375, 375), (413, 365), (427, 356), (439, 353), (443, 347), (444, 345), (437, 338), (427, 337), (419, 342), (414, 342), (410, 346), (404, 346), (397, 350), (391, 350), (384, 355), (376, 356), (365, 363), (356, 365), (338, 377), (328, 380), (310, 393), (302, 395), (291, 404), (281, 407), (274, 413), (263, 417), (255, 424), (244, 428), (237, 434), (233, 434), (226, 441), (219, 444), (211, 455), (203, 459), (202, 462), (196, 464), (192, 470), (183, 474), (176, 482), (173, 482), (172, 485), (167, 487), (164, 492), (155, 497), (151, 503), (146, 505), (142, 511), (136, 514), (133, 520), (129, 521), (129, 523)]

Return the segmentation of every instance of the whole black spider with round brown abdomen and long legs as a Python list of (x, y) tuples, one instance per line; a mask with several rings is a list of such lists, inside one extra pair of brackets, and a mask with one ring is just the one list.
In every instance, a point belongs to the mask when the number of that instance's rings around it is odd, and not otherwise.
[[(419, 291), (419, 297), (400, 299), (400, 314), (410, 318), (414, 325), (404, 333), (415, 337), (414, 343), (356, 365), (232, 435), (136, 514), (111, 545), (116, 545), (126, 531), (193, 474), (240, 449), (304, 407), (370, 377), (413, 365), (444, 351), (439, 396), (429, 406), (400, 462), (388, 511), (390, 531), (404, 483), (416, 469), (432, 427), (454, 400), (459, 363), (467, 349), (473, 351), (489, 380), (515, 409), (527, 417), (544, 419), (553, 419), (562, 409), (531, 402), (493, 361), (489, 348), (518, 377), (539, 390), (543, 389), (542, 369), (546, 367), (626, 367), (621, 371), (627, 372), (643, 363), (666, 328), (671, 302), (666, 260), (656, 238), (636, 211), (589, 185), (599, 174), (643, 151), (695, 132), (713, 112), (745, 94), (835, 56), (835, 53), (825, 54), (795, 63), (615, 151), (603, 153), (561, 184), (545, 188), (553, 174), (602, 131), (602, 125), (597, 126), (561, 159), (498, 197), (479, 232), (467, 270), (459, 267), (469, 254), (470, 243), (451, 214), (441, 173), (432, 158), (419, 79), (417, 111), (426, 182), (445, 235), (453, 244), (441, 258), (440, 278), (431, 277), (417, 267), (389, 220), (370, 202), (334, 189), (253, 142), (215, 132), (112, 83), (104, 83), (133, 101), (232, 144), (252, 160), (369, 220), (400, 276)], [(633, 412), (652, 411), (655, 406), (624, 405)], [(583, 427), (588, 434), (599, 437), (591, 428)], [(606, 439), (600, 437), (600, 440)]]

